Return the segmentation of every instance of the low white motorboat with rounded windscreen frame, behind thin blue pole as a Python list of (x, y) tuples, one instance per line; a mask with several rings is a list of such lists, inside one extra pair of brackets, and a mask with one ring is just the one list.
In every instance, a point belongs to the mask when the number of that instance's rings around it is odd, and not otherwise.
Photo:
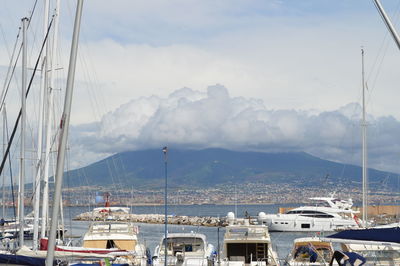
[[(165, 250), (167, 263), (165, 264)], [(198, 233), (171, 233), (155, 248), (153, 265), (213, 265), (214, 246), (207, 243), (206, 236)]]

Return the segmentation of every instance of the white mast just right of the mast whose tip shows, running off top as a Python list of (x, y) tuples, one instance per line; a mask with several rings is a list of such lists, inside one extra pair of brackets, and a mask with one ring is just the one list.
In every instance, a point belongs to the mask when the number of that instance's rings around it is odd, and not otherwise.
[[(49, 0), (45, 0), (44, 2), (44, 19), (43, 19), (43, 35), (46, 37), (48, 24), (49, 24)], [(43, 38), (43, 39), (44, 39)], [(43, 104), (45, 103), (45, 93), (47, 87), (47, 53), (48, 53), (48, 40), (46, 42), (46, 46), (44, 47), (45, 52), (42, 54), (42, 75), (41, 75), (41, 84), (40, 84), (40, 98), (39, 98), (39, 125), (38, 125), (38, 144), (37, 144), (37, 165), (36, 165), (36, 178), (35, 178), (35, 186), (34, 186), (34, 208), (33, 208), (33, 250), (37, 250), (38, 247), (38, 237), (39, 237), (39, 203), (40, 203), (40, 181), (42, 174), (42, 139), (43, 139)]]

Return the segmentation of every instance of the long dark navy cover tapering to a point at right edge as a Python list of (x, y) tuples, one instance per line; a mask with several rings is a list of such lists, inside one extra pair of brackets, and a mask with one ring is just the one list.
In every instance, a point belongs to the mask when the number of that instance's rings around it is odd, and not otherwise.
[(400, 227), (344, 230), (328, 236), (328, 238), (391, 242), (400, 244)]

